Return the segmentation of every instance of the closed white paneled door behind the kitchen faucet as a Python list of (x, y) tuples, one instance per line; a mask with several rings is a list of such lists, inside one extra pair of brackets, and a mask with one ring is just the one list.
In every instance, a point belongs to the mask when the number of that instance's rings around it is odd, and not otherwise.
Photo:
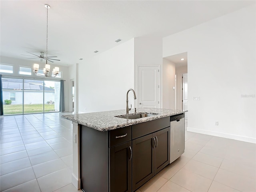
[(159, 108), (159, 66), (138, 67), (138, 108)]

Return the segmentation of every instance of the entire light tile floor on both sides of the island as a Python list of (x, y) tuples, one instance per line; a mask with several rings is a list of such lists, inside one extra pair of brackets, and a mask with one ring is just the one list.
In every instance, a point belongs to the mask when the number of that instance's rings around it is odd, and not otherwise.
[[(0, 117), (1, 192), (76, 192), (62, 114)], [(255, 192), (256, 144), (187, 132), (185, 153), (137, 192)]]

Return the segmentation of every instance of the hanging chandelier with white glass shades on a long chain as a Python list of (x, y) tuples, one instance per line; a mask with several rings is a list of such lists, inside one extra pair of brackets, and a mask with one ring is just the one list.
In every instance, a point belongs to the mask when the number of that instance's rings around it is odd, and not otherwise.
[[(38, 70), (39, 70), (39, 64), (35, 63), (34, 67), (33, 67), (33, 71), (36, 75), (40, 75), (40, 76), (45, 76), (45, 77), (56, 77), (59, 72), (60, 72), (60, 68), (55, 67), (53, 69), (53, 76), (50, 75), (50, 65), (47, 64), (47, 61), (49, 59), (51, 60), (57, 60), (57, 59), (52, 59), (51, 57), (48, 57), (48, 9), (50, 8), (50, 6), (48, 4), (44, 5), (47, 9), (47, 22), (46, 22), (46, 57), (44, 57), (44, 59), (46, 60), (46, 65), (45, 68), (43, 70), (43, 74), (38, 74)], [(52, 57), (56, 57), (56, 56), (52, 56)], [(50, 61), (50, 60), (49, 60)], [(58, 60), (59, 61), (59, 60)], [(53, 62), (53, 61), (50, 61)]]

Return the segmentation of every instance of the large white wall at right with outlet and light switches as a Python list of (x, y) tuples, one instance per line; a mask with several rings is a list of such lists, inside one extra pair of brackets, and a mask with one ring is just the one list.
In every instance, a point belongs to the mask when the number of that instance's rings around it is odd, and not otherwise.
[(256, 143), (255, 12), (248, 6), (163, 39), (163, 57), (188, 52), (188, 130)]

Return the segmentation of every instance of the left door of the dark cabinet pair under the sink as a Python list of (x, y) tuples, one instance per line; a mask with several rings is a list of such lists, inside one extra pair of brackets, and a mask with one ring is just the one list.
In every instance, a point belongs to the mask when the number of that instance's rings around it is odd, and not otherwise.
[(154, 176), (153, 134), (132, 140), (132, 191)]

